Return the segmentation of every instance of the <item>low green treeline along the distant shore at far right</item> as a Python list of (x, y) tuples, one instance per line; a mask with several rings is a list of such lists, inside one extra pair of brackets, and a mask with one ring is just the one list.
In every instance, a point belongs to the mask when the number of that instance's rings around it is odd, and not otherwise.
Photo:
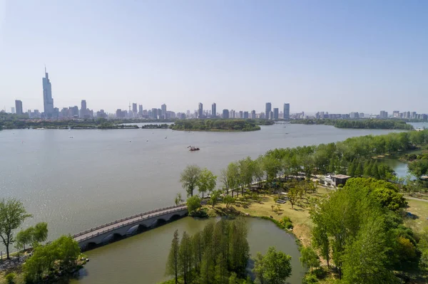
[(404, 120), (305, 119), (305, 120), (291, 120), (291, 123), (304, 124), (304, 125), (333, 125), (337, 128), (413, 130), (413, 126), (408, 125)]

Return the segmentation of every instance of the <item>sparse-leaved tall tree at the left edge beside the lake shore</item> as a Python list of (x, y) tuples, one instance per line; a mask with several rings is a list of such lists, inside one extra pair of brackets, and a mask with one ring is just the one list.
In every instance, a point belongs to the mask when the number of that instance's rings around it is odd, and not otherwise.
[(25, 219), (31, 217), (27, 214), (24, 205), (16, 199), (1, 199), (0, 201), (0, 238), (6, 247), (9, 257), (9, 246), (15, 242), (14, 230), (19, 228)]

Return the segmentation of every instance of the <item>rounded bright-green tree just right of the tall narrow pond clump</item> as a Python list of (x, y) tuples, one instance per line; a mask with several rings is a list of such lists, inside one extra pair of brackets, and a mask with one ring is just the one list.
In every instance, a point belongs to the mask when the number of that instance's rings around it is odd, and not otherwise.
[(262, 284), (285, 283), (291, 275), (291, 256), (270, 246), (265, 256), (255, 258), (253, 272)]

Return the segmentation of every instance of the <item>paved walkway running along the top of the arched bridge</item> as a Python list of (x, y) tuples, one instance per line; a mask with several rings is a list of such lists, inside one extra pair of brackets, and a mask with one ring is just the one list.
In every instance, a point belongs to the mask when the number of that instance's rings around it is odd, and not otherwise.
[(81, 241), (83, 239), (89, 238), (91, 236), (96, 235), (97, 233), (103, 233), (105, 231), (110, 231), (113, 230), (113, 228), (117, 228), (118, 226), (123, 226), (126, 225), (128, 223), (134, 223), (137, 221), (141, 221), (143, 219), (148, 219), (151, 216), (161, 216), (163, 214), (166, 214), (168, 212), (170, 212), (171, 210), (176, 210), (176, 211), (180, 211), (183, 209), (186, 209), (187, 206), (185, 205), (181, 205), (181, 206), (171, 206), (168, 208), (164, 208), (164, 209), (159, 209), (159, 210), (154, 210), (154, 211), (150, 211), (150, 212), (146, 212), (146, 213), (142, 213), (142, 214), (138, 214), (138, 215), (134, 215), (128, 218), (124, 218), (121, 220), (116, 220), (114, 222), (111, 223), (107, 223), (105, 225), (102, 226), (98, 226), (96, 228), (91, 228), (88, 231), (84, 231), (82, 233), (78, 233), (76, 235), (73, 236), (74, 240), (76, 241)]

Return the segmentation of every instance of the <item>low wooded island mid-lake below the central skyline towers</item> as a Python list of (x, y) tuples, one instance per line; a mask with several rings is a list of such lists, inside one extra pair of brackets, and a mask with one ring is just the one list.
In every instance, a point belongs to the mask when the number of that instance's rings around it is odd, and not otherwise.
[(196, 131), (255, 131), (260, 130), (255, 120), (177, 120), (172, 130)]

